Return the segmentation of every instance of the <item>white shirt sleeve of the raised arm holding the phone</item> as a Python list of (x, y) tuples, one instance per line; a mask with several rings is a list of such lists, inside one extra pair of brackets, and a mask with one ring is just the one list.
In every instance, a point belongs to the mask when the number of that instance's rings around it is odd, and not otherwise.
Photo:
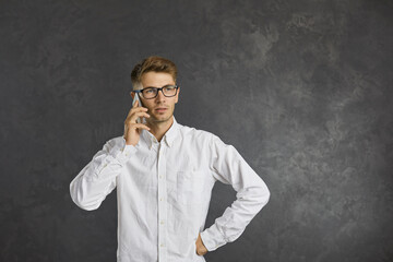
[(92, 211), (116, 188), (116, 177), (136, 148), (127, 145), (124, 138), (109, 140), (70, 183), (72, 201), (83, 210)]

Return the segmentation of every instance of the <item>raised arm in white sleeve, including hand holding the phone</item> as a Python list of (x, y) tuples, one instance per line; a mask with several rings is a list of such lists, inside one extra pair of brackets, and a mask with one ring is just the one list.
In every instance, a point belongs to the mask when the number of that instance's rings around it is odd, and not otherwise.
[(116, 188), (116, 178), (126, 162), (136, 151), (142, 129), (150, 130), (143, 123), (136, 123), (138, 117), (150, 117), (147, 108), (134, 103), (124, 120), (124, 135), (106, 142), (93, 159), (80, 171), (70, 184), (73, 202), (83, 210), (96, 210), (105, 198)]

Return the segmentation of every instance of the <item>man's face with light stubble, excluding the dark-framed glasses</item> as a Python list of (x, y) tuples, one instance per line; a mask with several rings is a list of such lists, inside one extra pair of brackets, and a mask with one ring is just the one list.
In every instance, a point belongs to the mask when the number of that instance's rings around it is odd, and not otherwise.
[[(143, 88), (146, 87), (163, 87), (165, 85), (175, 85), (174, 78), (164, 72), (147, 72), (144, 73), (141, 78), (141, 83)], [(146, 118), (147, 122), (157, 123), (169, 121), (174, 115), (175, 104), (179, 99), (179, 92), (176, 96), (166, 97), (162, 91), (158, 91), (158, 94), (155, 98), (145, 99), (141, 96), (141, 102), (144, 107), (146, 107), (147, 114), (151, 116)]]

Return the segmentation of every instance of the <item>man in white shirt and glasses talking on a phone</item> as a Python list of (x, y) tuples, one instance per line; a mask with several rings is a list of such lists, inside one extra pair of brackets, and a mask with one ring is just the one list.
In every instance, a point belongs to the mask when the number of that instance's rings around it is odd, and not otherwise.
[[(131, 96), (141, 105), (130, 109), (123, 135), (107, 141), (70, 184), (72, 200), (88, 211), (117, 188), (117, 261), (205, 261), (207, 251), (236, 240), (270, 199), (234, 146), (176, 121), (176, 78), (165, 58), (134, 67)], [(216, 181), (231, 184), (237, 200), (203, 230)]]

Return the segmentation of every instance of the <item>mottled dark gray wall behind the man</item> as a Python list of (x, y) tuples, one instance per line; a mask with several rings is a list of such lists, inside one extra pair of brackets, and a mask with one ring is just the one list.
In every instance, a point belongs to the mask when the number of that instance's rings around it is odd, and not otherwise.
[[(269, 204), (207, 261), (393, 261), (392, 1), (0, 0), (0, 260), (115, 261), (116, 194), (69, 183), (174, 60), (177, 120), (233, 144)], [(235, 200), (216, 183), (206, 226)]]

